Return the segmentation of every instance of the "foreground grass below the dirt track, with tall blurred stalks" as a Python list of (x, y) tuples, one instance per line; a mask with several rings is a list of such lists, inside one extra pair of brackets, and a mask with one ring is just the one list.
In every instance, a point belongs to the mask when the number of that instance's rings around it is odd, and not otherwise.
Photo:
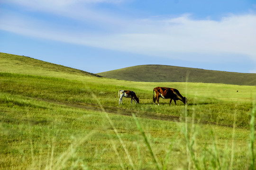
[[(155, 169), (132, 117), (7, 93), (0, 97), (5, 100), (0, 106), (1, 169)], [(250, 165), (246, 129), (185, 120), (138, 121), (161, 169), (195, 169), (187, 144), (192, 144), (202, 169), (248, 169)]]

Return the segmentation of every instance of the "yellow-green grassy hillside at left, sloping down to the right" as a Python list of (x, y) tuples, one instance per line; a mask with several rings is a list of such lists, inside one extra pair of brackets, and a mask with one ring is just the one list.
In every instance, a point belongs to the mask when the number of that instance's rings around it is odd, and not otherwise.
[(0, 52), (0, 72), (63, 78), (66, 76), (99, 76), (79, 69), (2, 52)]

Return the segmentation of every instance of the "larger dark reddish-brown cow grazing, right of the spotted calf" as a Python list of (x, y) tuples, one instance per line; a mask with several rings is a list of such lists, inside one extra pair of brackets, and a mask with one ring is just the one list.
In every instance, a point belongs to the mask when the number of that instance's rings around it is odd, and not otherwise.
[(153, 91), (153, 102), (155, 104), (155, 101), (157, 101), (157, 104), (159, 105), (159, 97), (162, 97), (163, 99), (171, 99), (169, 105), (171, 104), (172, 100), (174, 100), (175, 105), (177, 100), (182, 101), (184, 104), (187, 104), (187, 98), (183, 97), (181, 93), (174, 88), (168, 88), (168, 87), (155, 87)]

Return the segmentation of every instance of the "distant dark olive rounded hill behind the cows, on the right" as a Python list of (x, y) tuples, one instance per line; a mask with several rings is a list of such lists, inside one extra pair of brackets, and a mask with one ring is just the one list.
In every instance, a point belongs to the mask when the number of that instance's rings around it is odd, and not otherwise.
[(166, 65), (140, 65), (97, 73), (119, 80), (140, 82), (197, 82), (256, 85), (256, 74), (185, 68)]

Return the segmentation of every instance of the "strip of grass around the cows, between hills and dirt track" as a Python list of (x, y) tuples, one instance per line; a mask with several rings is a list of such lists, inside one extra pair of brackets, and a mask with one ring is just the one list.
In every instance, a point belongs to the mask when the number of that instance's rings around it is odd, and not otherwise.
[[(118, 90), (131, 89), (137, 93), (137, 96), (140, 98), (140, 104), (131, 105), (130, 100), (125, 98), (123, 100), (124, 104), (118, 106), (119, 108), (136, 110), (139, 111), (141, 115), (143, 115), (144, 112), (149, 112), (171, 116), (182, 116), (181, 114), (184, 110), (182, 102), (177, 102), (178, 106), (174, 107), (174, 103), (169, 106), (169, 100), (164, 99), (159, 100), (161, 107), (153, 105), (154, 86), (151, 87), (151, 90), (147, 90), (148, 86), (140, 85), (139, 82), (136, 83), (137, 85), (134, 85), (134, 82), (127, 82), (126, 86), (119, 86), (111, 85), (110, 83), (102, 83), (101, 78), (98, 78), (98, 81), (94, 79), (93, 82), (42, 76), (24, 76), (10, 73), (1, 73), (0, 75), (0, 90), (5, 93), (24, 95), (37, 99), (47, 99), (50, 101), (97, 104), (92, 98), (92, 95), (95, 95), (102, 105), (117, 107), (119, 103)], [(121, 82), (116, 81), (116, 84), (119, 83)], [(209, 85), (200, 86), (198, 84), (190, 84), (190, 87), (185, 84), (179, 85), (180, 92), (186, 94), (189, 99), (189, 107), (187, 108), (189, 116), (195, 112), (196, 119), (232, 126), (233, 114), (238, 112), (237, 114), (240, 120), (238, 124), (239, 127), (249, 126), (248, 122), (250, 117), (248, 112), (252, 108), (252, 96), (255, 95), (253, 91), (255, 87), (241, 86), (239, 90), (242, 92), (239, 93), (239, 91), (236, 91), (237, 88), (234, 85), (216, 85), (214, 88), (208, 88)], [(198, 89), (200, 89), (198, 93), (194, 91), (197, 85)], [(191, 91), (191, 89), (194, 90)], [(245, 91), (245, 93), (243, 93), (243, 91)], [(227, 96), (222, 97), (221, 95), (223, 93), (226, 93)], [(210, 97), (211, 95), (212, 97)], [(230, 100), (228, 100), (228, 96), (232, 96)], [(233, 101), (234, 96), (237, 96), (237, 101)], [(117, 108), (114, 108), (114, 110), (117, 110)]]

